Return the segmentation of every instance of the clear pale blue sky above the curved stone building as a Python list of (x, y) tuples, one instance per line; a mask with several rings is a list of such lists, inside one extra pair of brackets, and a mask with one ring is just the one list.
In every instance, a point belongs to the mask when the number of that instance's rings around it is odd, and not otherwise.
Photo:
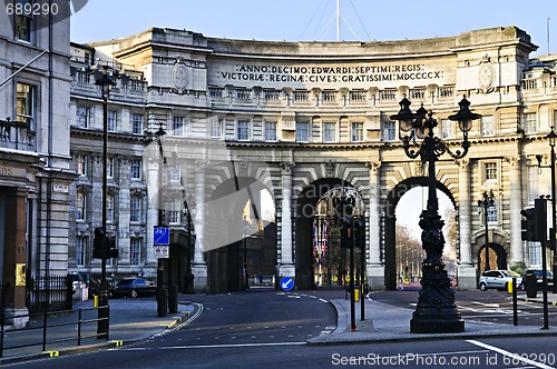
[[(340, 0), (340, 4), (343, 40), (421, 39), (517, 26), (539, 46), (535, 54), (545, 54), (550, 18), (549, 51), (557, 52), (556, 0)], [(89, 0), (71, 18), (71, 40), (99, 41), (168, 27), (228, 39), (334, 41), (335, 9), (336, 0)]]

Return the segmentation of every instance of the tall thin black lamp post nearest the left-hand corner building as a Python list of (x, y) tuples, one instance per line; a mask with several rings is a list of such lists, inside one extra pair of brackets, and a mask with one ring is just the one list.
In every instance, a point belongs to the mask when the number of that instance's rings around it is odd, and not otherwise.
[(108, 256), (106, 255), (107, 248), (105, 246), (106, 231), (107, 231), (107, 176), (108, 176), (108, 99), (110, 97), (110, 90), (116, 86), (116, 82), (108, 74), (108, 66), (102, 67), (102, 71), (97, 71), (95, 84), (98, 86), (100, 96), (102, 98), (102, 252), (101, 255), (101, 269), (100, 269), (100, 292), (99, 292), (99, 310), (98, 310), (98, 322), (97, 322), (97, 338), (108, 339), (108, 288), (106, 281), (106, 260)]

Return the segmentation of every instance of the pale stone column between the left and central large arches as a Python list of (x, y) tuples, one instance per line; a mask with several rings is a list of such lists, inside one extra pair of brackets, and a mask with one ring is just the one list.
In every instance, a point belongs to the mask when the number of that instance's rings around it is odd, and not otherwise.
[(292, 168), (293, 162), (281, 162), (282, 169), (282, 201), (281, 201), (281, 259), (278, 262), (280, 276), (293, 277), (294, 247), (292, 239)]

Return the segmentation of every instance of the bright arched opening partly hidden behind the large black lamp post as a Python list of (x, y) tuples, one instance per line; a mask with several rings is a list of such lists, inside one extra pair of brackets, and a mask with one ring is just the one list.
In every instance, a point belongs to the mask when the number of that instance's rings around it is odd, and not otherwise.
[[(399, 283), (407, 281), (407, 278), (418, 282), (421, 276), (421, 261), (426, 252), (421, 249), (419, 220), (422, 209), (427, 207), (428, 183), (429, 179), (426, 177), (413, 177), (397, 184), (387, 197), (383, 260), (385, 289), (388, 290), (395, 290)], [(456, 276), (458, 225), (455, 199), (447, 187), (440, 182), (437, 182), (437, 197), (439, 213), (444, 220), (443, 261), (449, 276)], [(401, 229), (408, 232), (405, 239), (402, 238)]]

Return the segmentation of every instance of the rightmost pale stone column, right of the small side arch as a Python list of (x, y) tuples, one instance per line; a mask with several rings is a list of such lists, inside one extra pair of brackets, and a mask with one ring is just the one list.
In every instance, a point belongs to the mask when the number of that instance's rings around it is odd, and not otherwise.
[(524, 262), (524, 248), (521, 237), (521, 179), (520, 179), (520, 159), (519, 158), (505, 158), (509, 163), (509, 181), (510, 181), (510, 199), (509, 199), (509, 215), (510, 215), (510, 269), (526, 268)]

